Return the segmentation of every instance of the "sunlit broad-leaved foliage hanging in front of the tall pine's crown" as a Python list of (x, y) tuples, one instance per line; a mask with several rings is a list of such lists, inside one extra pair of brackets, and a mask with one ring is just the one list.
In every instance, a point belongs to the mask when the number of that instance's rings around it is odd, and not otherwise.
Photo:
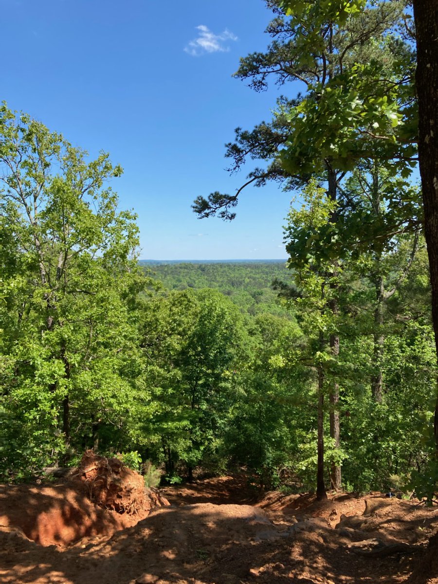
[(392, 82), (384, 83), (385, 67), (372, 61), (315, 86), (286, 114), (290, 135), (280, 152), (283, 168), (291, 174), (321, 172), (329, 159), (332, 168), (351, 171), (361, 159), (378, 158), (392, 160), (393, 172), (407, 178), (416, 149), (406, 140), (412, 141), (416, 120), (409, 105), (413, 89), (397, 81), (404, 74), (394, 72)]

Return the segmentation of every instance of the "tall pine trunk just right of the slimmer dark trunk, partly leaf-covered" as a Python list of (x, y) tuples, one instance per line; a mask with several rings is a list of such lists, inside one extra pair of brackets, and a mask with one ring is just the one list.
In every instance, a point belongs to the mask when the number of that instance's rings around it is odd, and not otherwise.
[[(333, 171), (331, 166), (327, 165), (328, 171), (328, 196), (329, 199), (333, 202), (336, 201), (336, 194), (338, 189), (338, 178), (336, 176), (336, 171)], [(331, 216), (329, 217), (330, 223), (335, 223), (338, 219), (338, 213), (336, 209), (332, 212)], [(330, 275), (331, 279), (338, 276), (338, 268), (339, 266), (336, 263), (333, 265), (333, 272)], [(335, 282), (331, 282), (330, 288), (332, 294), (335, 293), (338, 284)], [(333, 317), (336, 319), (339, 312), (338, 301), (336, 298), (332, 298), (329, 302), (329, 308), (332, 312)], [(339, 357), (339, 335), (338, 333), (334, 333), (330, 335), (330, 350), (332, 353), (333, 359), (338, 360)], [(339, 384), (334, 378), (330, 385), (330, 393), (329, 393), (329, 402), (330, 402), (330, 437), (334, 441), (334, 446), (336, 449), (340, 448), (340, 419), (339, 419)], [(340, 474), (340, 465), (332, 463), (331, 465), (331, 486), (336, 491), (339, 491), (341, 486), (341, 474)]]

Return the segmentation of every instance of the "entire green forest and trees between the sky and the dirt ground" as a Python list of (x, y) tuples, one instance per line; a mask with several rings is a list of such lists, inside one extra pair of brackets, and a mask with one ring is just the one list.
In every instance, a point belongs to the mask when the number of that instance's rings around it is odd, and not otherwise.
[[(265, 165), (248, 183), (299, 194), (288, 269), (141, 266), (135, 216), (107, 186), (121, 168), (1, 107), (3, 480), (94, 447), (163, 465), (169, 482), (244, 465), (263, 486), (320, 497), (410, 484), (432, 496), (436, 353), (405, 3), (268, 5), (273, 42), (236, 76), (255, 89), (299, 79), (305, 95), (238, 128), (227, 156), (232, 170)], [(194, 210), (232, 219), (238, 194)]]

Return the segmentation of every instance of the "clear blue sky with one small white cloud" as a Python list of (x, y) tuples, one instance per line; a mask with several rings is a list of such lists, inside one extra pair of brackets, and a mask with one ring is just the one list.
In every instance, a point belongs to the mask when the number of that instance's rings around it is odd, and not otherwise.
[(224, 144), (235, 127), (269, 119), (280, 93), (231, 77), (240, 56), (269, 42), (263, 0), (0, 0), (0, 9), (1, 99), (123, 166), (112, 186), (120, 208), (138, 214), (141, 258), (286, 258), (290, 195), (276, 186), (248, 187), (232, 223), (190, 208), (245, 182), (247, 171), (224, 170)]

